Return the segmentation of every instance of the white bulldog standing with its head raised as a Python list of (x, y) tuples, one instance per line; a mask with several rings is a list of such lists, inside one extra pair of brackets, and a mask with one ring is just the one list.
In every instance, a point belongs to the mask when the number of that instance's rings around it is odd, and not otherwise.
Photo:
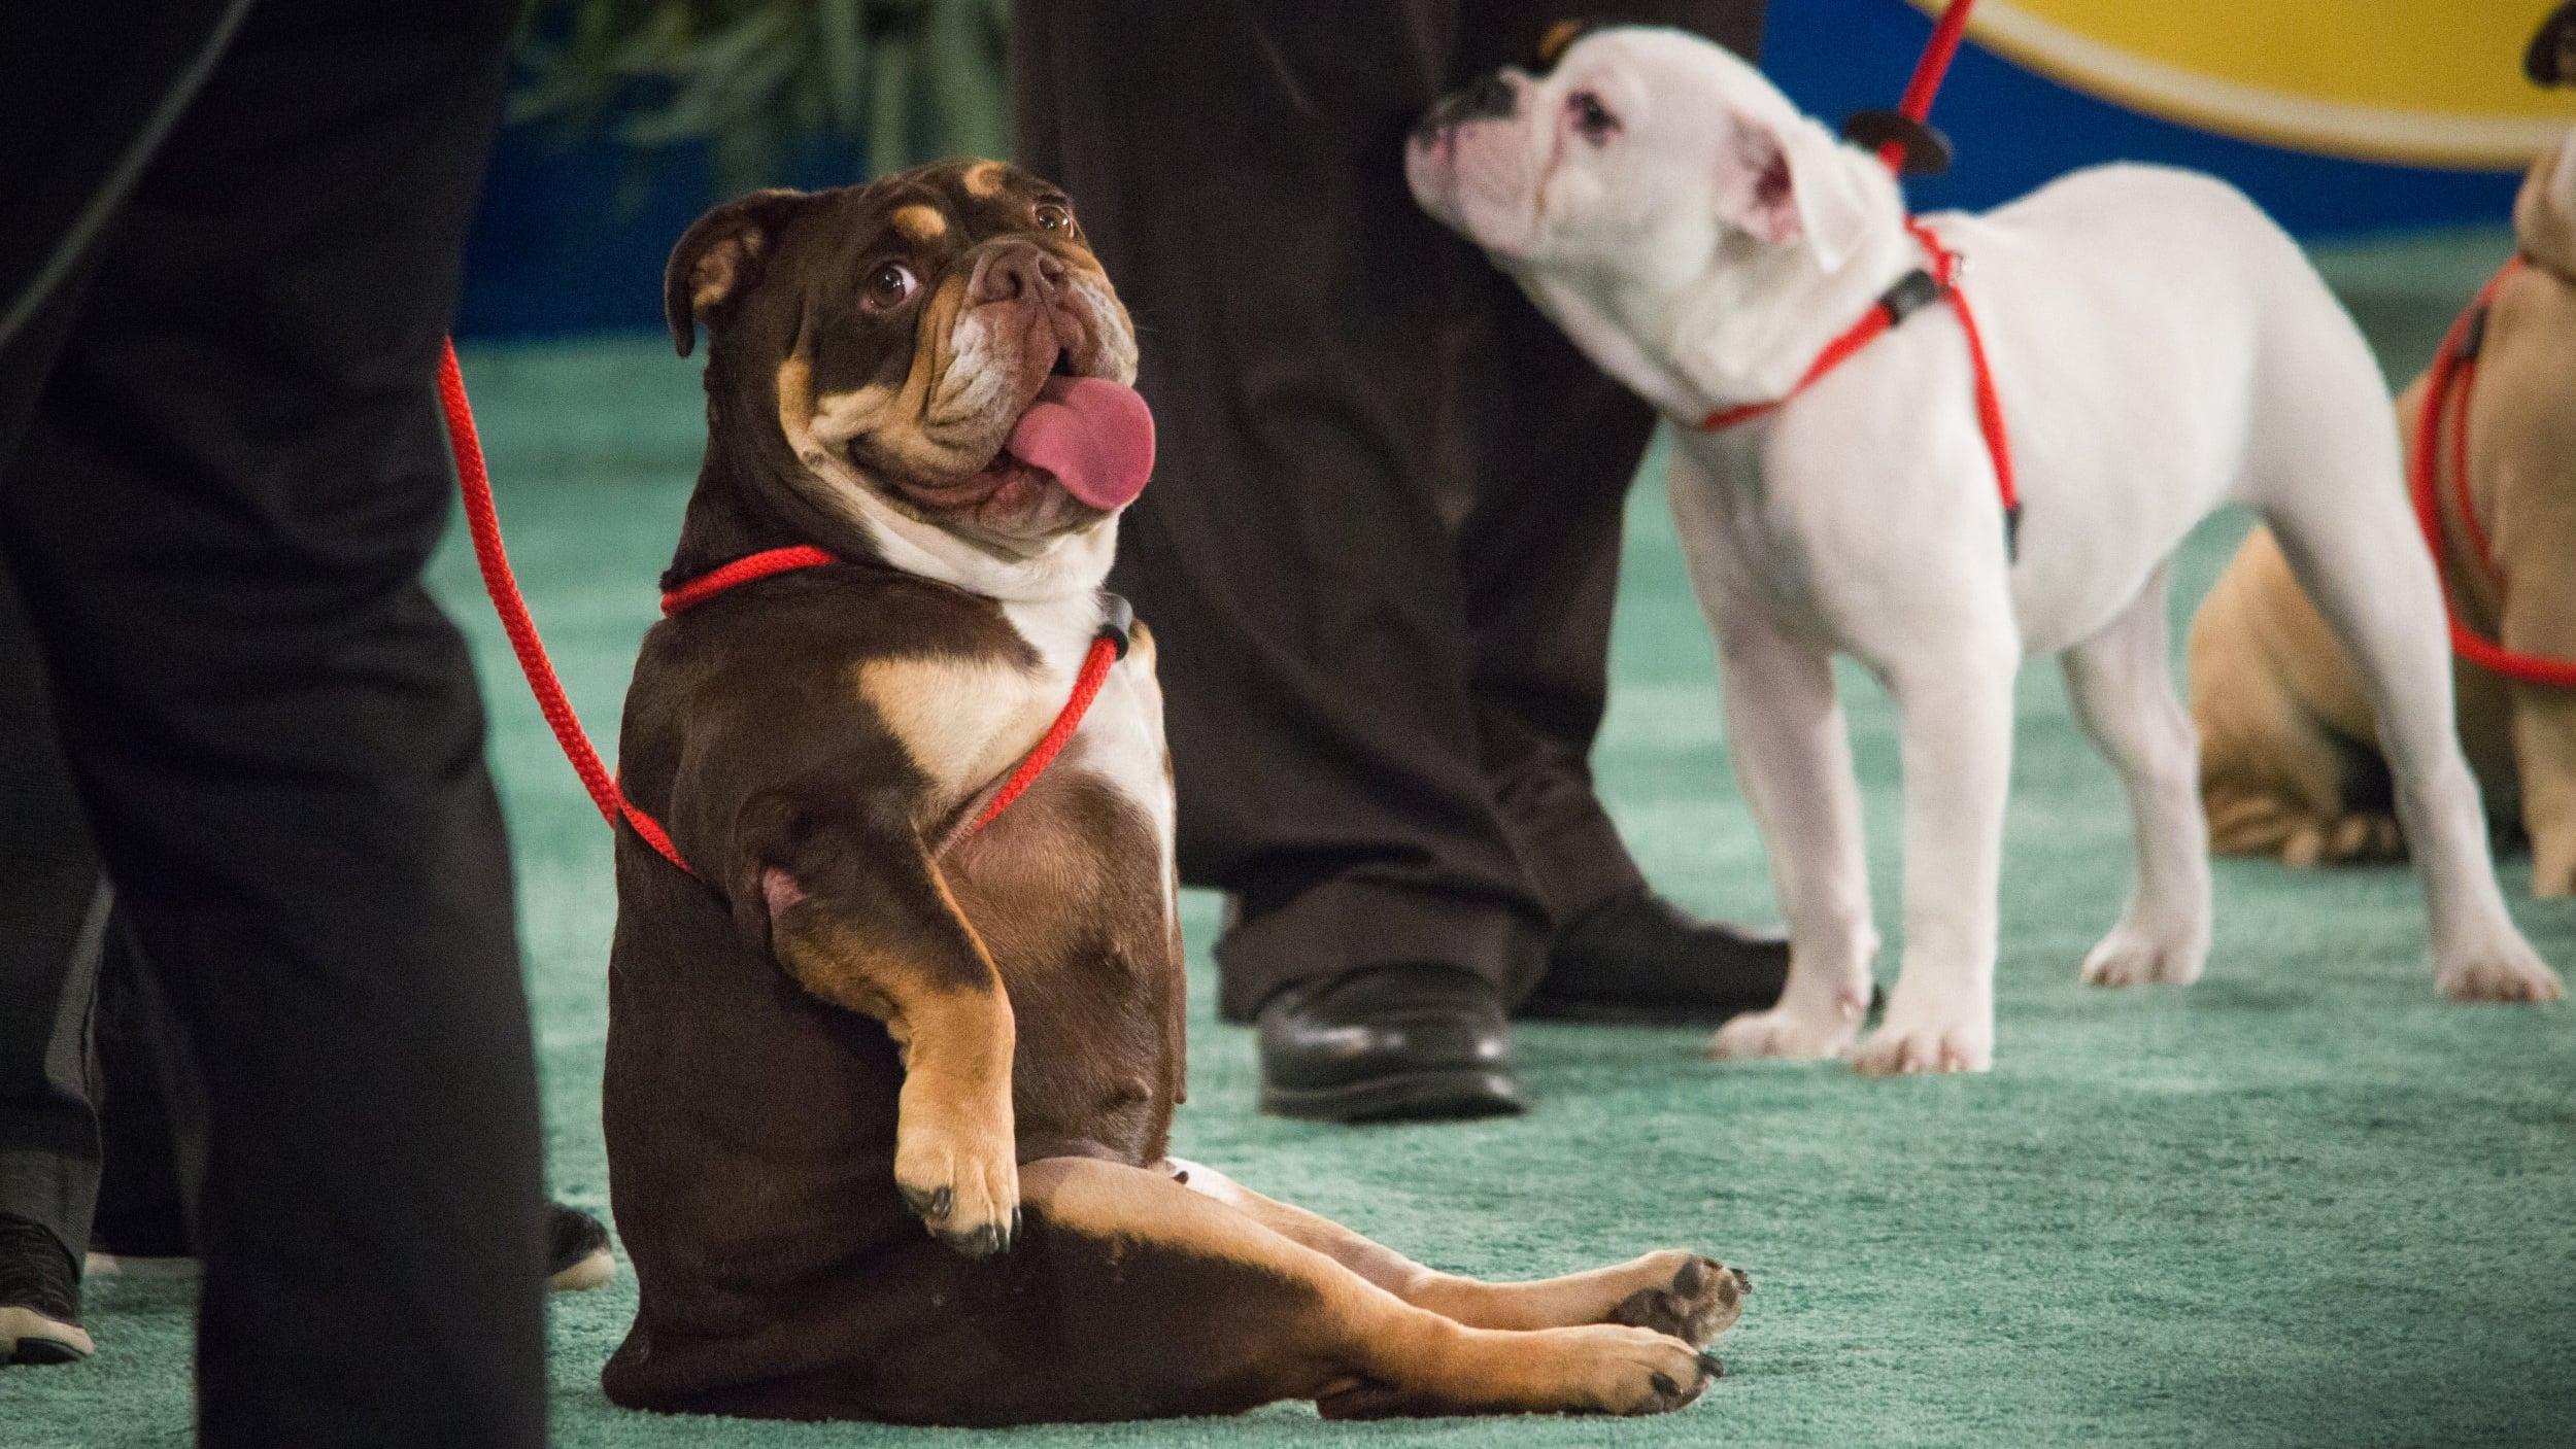
[[(2076, 718), (2136, 816), (2136, 885), (2084, 981), (2200, 975), (2208, 829), (2164, 595), (2174, 546), (2226, 502), (2280, 533), (2360, 661), (2439, 988), (2561, 996), (2496, 888), (2380, 373), (2244, 196), (2115, 165), (1984, 216), (1924, 219), (1963, 257), (2002, 394), (2025, 502), (2012, 551), (1950, 304), (1798, 391), (1924, 252), (1880, 162), (1734, 54), (1667, 28), (1592, 31), (1546, 75), (1504, 69), (1443, 100), (1406, 175), (1432, 216), (1680, 422), (1672, 512), (1795, 952), (1780, 1006), (1728, 1022), (1716, 1055), (1850, 1053), (1870, 999), (1878, 932), (1837, 651), (1886, 682), (1904, 721), (1904, 965), (1860, 1071), (1994, 1060), (2012, 682), (2032, 654), (2063, 651)], [(1698, 427), (1793, 391), (1759, 420)]]

